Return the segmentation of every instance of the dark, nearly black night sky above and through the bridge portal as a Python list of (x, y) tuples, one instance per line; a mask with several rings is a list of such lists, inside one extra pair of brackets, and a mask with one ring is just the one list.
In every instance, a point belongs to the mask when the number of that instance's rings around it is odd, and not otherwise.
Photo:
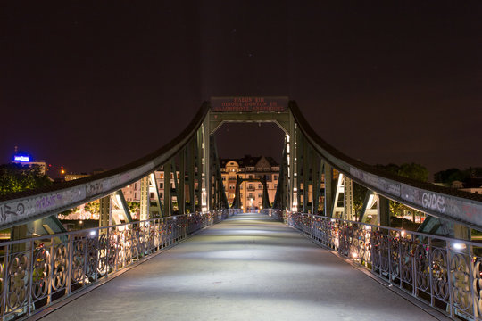
[[(0, 3), (0, 162), (111, 169), (213, 95), (288, 95), (370, 164), (482, 166), (482, 2)], [(220, 134), (223, 157), (280, 152), (274, 126)]]

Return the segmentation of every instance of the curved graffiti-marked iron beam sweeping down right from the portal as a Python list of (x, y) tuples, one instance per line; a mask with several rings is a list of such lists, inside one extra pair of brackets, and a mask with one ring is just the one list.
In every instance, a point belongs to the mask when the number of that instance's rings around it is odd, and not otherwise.
[(354, 160), (321, 139), (294, 101), (290, 101), (289, 109), (312, 148), (356, 183), (437, 218), (482, 229), (482, 195), (398, 177)]

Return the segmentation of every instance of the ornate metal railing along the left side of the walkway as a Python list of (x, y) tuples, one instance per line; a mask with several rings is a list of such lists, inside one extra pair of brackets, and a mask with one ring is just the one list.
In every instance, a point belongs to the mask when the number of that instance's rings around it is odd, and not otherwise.
[(28, 317), (237, 210), (212, 210), (0, 243), (3, 320)]

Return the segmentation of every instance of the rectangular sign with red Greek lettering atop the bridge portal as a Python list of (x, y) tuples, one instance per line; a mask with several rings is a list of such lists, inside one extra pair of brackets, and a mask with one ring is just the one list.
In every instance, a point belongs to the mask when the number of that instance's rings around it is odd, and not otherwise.
[(287, 111), (288, 97), (212, 97), (212, 111)]

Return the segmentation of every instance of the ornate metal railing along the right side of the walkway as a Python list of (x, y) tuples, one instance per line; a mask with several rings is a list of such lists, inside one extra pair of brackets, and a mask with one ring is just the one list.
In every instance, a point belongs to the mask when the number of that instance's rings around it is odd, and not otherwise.
[(286, 210), (263, 210), (450, 317), (482, 320), (482, 244)]

